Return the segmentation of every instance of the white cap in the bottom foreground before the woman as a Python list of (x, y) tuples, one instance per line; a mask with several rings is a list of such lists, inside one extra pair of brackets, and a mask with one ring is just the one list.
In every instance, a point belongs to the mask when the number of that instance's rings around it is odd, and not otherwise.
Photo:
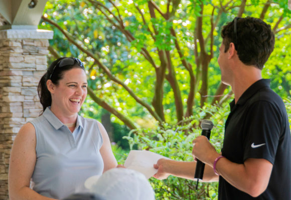
[(91, 185), (91, 192), (107, 200), (152, 200), (155, 192), (145, 176), (127, 168), (112, 168)]

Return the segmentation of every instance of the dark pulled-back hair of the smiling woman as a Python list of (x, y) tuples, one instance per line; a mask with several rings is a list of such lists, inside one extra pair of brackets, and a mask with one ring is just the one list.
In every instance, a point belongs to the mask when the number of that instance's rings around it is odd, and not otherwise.
[[(70, 62), (68, 62), (69, 64), (66, 64), (66, 62), (61, 62), (64, 60), (69, 60), (73, 64)], [(82, 68), (85, 70), (83, 63), (78, 58), (60, 57), (51, 63), (47, 72), (41, 77), (38, 84), (38, 95), (40, 102), (43, 105), (43, 111), (45, 111), (45, 109), (52, 104), (51, 92), (47, 87), (48, 79), (51, 79), (55, 85), (58, 85), (59, 80), (64, 76), (64, 71), (70, 70), (72, 68)]]

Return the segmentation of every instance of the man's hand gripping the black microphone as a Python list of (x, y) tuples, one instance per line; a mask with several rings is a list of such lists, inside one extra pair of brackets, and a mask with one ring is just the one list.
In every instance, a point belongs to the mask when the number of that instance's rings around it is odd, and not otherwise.
[(200, 135), (193, 140), (192, 155), (196, 161), (199, 159), (212, 166), (219, 153), (216, 152), (206, 136)]

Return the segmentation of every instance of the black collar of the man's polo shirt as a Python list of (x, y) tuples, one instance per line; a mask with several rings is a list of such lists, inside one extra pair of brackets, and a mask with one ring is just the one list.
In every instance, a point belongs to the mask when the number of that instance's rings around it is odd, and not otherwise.
[[(239, 97), (237, 105), (244, 104), (251, 96), (253, 96), (259, 89), (263, 87), (270, 87), (270, 79), (260, 79), (250, 85)], [(230, 102), (230, 108), (235, 106), (234, 99)]]

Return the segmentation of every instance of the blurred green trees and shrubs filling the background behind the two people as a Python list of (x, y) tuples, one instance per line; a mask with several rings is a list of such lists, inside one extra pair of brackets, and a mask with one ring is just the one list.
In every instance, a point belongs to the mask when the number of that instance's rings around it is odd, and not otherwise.
[[(80, 113), (102, 122), (119, 163), (132, 148), (192, 160), (204, 118), (214, 121), (211, 140), (221, 147), (233, 94), (217, 58), (220, 30), (235, 16), (271, 25), (275, 48), (262, 74), (290, 120), (290, 13), (287, 0), (48, 0), (39, 28), (54, 31), (49, 64), (60, 56), (84, 62), (88, 96)], [(151, 182), (157, 199), (217, 198), (216, 183), (195, 191), (176, 177)]]

